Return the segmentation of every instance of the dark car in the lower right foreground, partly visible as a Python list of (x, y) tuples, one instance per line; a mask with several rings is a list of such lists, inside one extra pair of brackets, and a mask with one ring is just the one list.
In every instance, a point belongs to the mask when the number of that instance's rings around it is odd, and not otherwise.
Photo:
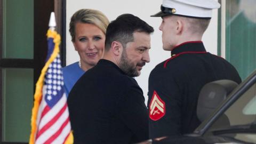
[(193, 133), (142, 143), (256, 143), (256, 71), (238, 86), (229, 80), (206, 84), (197, 108), (202, 124)]

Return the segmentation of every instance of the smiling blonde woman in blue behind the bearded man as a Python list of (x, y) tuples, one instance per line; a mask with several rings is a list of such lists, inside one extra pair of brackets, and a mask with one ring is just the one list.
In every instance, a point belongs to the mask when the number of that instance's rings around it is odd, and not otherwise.
[(102, 58), (108, 24), (108, 18), (98, 10), (81, 9), (71, 17), (69, 32), (80, 60), (63, 68), (67, 94), (85, 71)]

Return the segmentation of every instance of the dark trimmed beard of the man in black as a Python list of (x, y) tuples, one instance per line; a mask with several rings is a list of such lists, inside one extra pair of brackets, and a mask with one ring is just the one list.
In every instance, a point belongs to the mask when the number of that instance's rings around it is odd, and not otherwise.
[[(140, 63), (139, 64), (140, 66), (144, 66), (145, 65), (145, 62), (143, 63)], [(130, 77), (136, 77), (136, 76), (139, 76), (140, 73), (139, 71), (137, 70), (136, 66), (134, 66), (130, 60), (127, 58), (127, 54), (126, 54), (126, 50), (123, 50), (123, 53), (121, 55), (121, 61), (120, 61), (120, 66), (119, 66), (123, 71), (124, 73), (127, 75), (127, 76), (130, 76)]]

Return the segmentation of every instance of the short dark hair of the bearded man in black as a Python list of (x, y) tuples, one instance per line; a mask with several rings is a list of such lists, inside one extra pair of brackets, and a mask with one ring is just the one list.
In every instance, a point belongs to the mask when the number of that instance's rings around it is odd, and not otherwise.
[(153, 33), (154, 28), (148, 23), (132, 14), (122, 14), (111, 21), (106, 31), (105, 51), (111, 47), (114, 41), (120, 42), (123, 47), (126, 47), (128, 42), (133, 42), (134, 32), (145, 32), (147, 34)]

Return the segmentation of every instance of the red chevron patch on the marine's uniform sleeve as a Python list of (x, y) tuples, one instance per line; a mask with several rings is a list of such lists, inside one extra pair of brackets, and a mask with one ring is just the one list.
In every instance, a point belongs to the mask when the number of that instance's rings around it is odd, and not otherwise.
[(157, 121), (165, 115), (165, 102), (154, 91), (153, 97), (149, 104), (149, 117), (153, 121)]

